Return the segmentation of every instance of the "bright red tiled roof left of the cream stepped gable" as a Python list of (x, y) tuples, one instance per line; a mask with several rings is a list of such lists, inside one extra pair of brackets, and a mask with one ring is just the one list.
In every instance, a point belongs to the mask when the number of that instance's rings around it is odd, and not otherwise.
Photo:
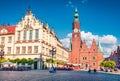
[[(0, 35), (6, 35), (6, 34), (14, 34), (15, 33), (15, 28), (16, 26), (11, 26), (11, 25), (2, 25), (0, 26)], [(7, 30), (7, 33), (2, 33), (1, 30), (2, 29), (6, 29)]]

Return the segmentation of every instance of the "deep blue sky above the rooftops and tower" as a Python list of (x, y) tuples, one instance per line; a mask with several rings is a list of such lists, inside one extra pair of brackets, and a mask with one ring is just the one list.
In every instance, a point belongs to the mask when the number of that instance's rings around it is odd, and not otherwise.
[[(114, 50), (120, 44), (119, 4), (120, 0), (0, 0), (0, 24), (15, 25), (30, 5), (36, 18), (48, 22), (63, 42), (70, 38), (74, 9), (77, 7), (83, 34), (91, 33), (93, 38), (98, 36), (103, 46), (111, 46), (109, 48)], [(105, 38), (110, 38), (106, 40), (109, 44), (103, 41)]]

